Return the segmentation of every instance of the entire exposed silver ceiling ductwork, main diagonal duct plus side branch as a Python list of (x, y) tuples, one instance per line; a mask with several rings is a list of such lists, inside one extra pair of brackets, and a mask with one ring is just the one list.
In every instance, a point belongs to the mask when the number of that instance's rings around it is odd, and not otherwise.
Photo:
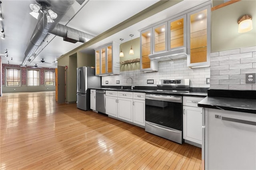
[(90, 34), (86, 34), (73, 28), (58, 24), (63, 16), (68, 12), (72, 4), (74, 4), (75, 0), (36, 0), (36, 2), (38, 2), (40, 5), (45, 5), (48, 9), (53, 10), (58, 17), (54, 19), (54, 22), (47, 23), (45, 14), (43, 15), (43, 13), (40, 12), (36, 28), (30, 38), (30, 43), (25, 51), (22, 64), (20, 64), (21, 67), (26, 67), (34, 60), (35, 56), (32, 55), (43, 44), (49, 33), (61, 37), (67, 37), (67, 31), (70, 30), (79, 35), (79, 41), (81, 40), (80, 42), (86, 42), (94, 37)]

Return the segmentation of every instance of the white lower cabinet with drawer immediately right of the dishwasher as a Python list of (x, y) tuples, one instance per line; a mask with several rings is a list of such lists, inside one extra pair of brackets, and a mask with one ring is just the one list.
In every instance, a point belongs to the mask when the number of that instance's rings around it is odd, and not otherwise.
[(117, 91), (106, 91), (106, 114), (117, 117)]

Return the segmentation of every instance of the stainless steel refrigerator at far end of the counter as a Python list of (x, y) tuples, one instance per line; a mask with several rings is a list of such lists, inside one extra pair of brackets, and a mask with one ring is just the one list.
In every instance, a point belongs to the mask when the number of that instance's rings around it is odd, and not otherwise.
[(90, 88), (100, 87), (100, 76), (95, 76), (95, 68), (78, 67), (76, 84), (76, 107), (87, 111), (90, 109)]

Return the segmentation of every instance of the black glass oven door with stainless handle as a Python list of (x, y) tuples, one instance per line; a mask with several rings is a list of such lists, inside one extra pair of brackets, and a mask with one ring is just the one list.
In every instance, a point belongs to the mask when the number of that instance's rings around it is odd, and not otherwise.
[(146, 94), (145, 119), (182, 131), (182, 96)]

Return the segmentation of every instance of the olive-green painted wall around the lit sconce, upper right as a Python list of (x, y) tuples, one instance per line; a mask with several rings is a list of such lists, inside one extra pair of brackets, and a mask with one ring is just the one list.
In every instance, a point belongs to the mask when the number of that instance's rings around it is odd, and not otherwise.
[[(238, 33), (238, 19), (244, 14), (252, 16), (253, 29)], [(251, 47), (256, 45), (256, 1), (241, 0), (212, 11), (211, 52)]]

